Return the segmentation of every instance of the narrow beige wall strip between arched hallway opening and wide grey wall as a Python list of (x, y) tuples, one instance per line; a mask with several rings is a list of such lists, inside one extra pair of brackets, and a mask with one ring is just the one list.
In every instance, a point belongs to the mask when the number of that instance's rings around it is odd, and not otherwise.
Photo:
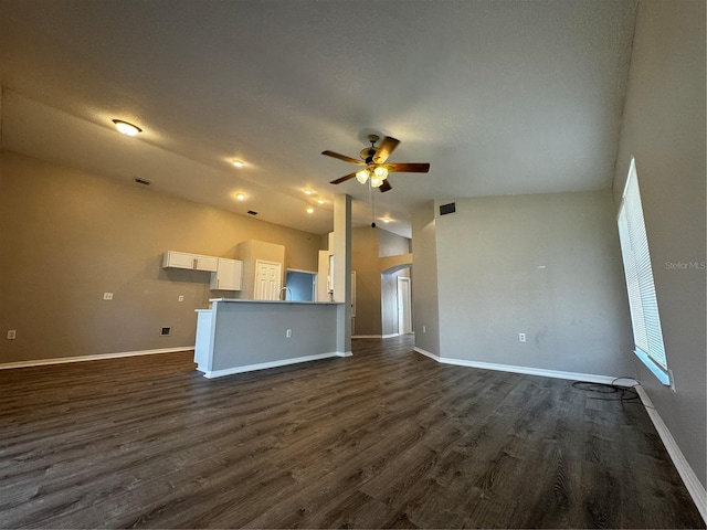
[(412, 214), (412, 329), (415, 348), (440, 356), (440, 314), (437, 294), (437, 244), (434, 204), (419, 206)]

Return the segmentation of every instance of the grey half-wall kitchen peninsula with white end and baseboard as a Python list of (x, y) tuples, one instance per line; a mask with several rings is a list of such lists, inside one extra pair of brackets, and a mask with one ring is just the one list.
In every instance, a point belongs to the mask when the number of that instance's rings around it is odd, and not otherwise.
[(328, 357), (337, 351), (339, 303), (214, 298), (198, 309), (197, 370), (207, 378)]

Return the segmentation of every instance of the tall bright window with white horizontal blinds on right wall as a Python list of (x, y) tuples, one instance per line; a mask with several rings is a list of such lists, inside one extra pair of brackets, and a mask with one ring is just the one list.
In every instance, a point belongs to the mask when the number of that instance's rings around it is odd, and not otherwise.
[(635, 159), (631, 160), (618, 216), (636, 356), (663, 384), (671, 384), (658, 314)]

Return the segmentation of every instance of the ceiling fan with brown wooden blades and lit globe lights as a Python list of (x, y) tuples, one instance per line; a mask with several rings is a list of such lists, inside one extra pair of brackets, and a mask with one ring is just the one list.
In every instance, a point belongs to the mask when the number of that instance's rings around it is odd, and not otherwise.
[[(321, 155), (327, 157), (338, 158), (345, 162), (356, 163), (362, 166), (362, 169), (354, 171), (352, 173), (345, 174), (344, 177), (333, 180), (331, 184), (340, 184), (349, 179), (356, 177), (361, 184), (369, 182), (371, 188), (378, 188), (380, 191), (388, 191), (392, 187), (388, 181), (388, 173), (426, 173), (430, 171), (429, 163), (386, 163), (388, 157), (395, 150), (400, 140), (387, 136), (380, 146), (376, 147), (376, 142), (380, 140), (378, 135), (368, 135), (368, 141), (371, 142), (371, 147), (361, 149), (359, 156), (361, 160), (347, 157), (346, 155), (339, 155), (334, 151), (321, 151)], [(370, 180), (369, 180), (370, 179)]]

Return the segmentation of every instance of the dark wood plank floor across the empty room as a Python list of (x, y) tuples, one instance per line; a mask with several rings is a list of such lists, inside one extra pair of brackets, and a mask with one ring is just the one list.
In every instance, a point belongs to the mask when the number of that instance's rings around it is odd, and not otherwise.
[(0, 389), (1, 528), (705, 528), (639, 402), (409, 338), (217, 380), (191, 352), (3, 370)]

